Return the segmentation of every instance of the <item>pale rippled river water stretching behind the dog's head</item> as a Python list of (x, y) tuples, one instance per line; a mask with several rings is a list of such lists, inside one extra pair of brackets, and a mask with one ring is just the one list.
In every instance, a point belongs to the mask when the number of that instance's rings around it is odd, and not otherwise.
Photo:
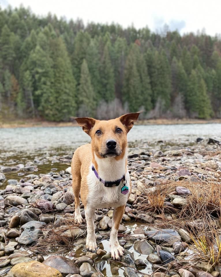
[[(155, 142), (221, 137), (221, 124), (135, 125), (128, 141)], [(29, 127), (0, 129), (0, 154), (47, 152), (51, 149), (74, 150), (90, 141), (80, 127)]]

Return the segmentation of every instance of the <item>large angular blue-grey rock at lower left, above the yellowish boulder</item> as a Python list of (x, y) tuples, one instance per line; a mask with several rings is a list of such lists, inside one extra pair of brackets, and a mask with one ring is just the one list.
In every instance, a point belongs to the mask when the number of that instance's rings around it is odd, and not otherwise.
[(18, 238), (18, 243), (20, 243), (21, 245), (31, 245), (41, 235), (42, 235), (42, 231), (39, 228), (36, 228), (33, 225), (29, 225), (25, 228), (25, 230), (22, 232), (22, 234)]

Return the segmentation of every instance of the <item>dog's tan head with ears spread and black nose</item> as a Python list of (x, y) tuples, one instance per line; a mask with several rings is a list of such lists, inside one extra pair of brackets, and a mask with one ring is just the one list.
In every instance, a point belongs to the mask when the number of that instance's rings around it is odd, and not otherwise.
[(117, 157), (124, 154), (127, 133), (138, 119), (139, 113), (130, 113), (108, 121), (78, 117), (76, 121), (91, 137), (95, 154), (99, 158)]

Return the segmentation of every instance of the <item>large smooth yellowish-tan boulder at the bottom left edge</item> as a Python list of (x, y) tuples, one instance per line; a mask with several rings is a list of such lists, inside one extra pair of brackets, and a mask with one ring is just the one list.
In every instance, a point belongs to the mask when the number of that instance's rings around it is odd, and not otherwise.
[(10, 270), (8, 277), (62, 277), (61, 273), (37, 261), (18, 263)]

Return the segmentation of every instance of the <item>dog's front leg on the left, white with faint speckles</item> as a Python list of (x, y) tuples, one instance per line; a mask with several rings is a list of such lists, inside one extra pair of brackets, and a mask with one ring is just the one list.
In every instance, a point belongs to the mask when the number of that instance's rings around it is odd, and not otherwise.
[(88, 249), (88, 251), (91, 251), (91, 252), (96, 252), (97, 250), (95, 227), (94, 227), (94, 213), (95, 213), (95, 209), (93, 208), (85, 209), (85, 218), (87, 221), (86, 248)]

